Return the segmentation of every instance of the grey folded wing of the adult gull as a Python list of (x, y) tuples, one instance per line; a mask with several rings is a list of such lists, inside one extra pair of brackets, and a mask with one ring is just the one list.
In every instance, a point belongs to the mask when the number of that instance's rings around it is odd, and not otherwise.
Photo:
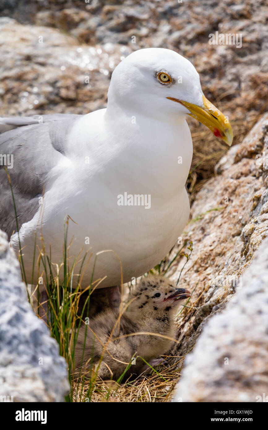
[(65, 157), (68, 132), (79, 117), (44, 115), (41, 123), (38, 116), (0, 118), (2, 126), (12, 126), (0, 134), (0, 228), (9, 237), (17, 231), (9, 178), (20, 228), (37, 212), (46, 178)]

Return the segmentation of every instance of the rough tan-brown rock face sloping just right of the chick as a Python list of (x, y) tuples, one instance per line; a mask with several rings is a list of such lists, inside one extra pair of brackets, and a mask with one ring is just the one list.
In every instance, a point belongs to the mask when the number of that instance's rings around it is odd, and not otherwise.
[[(180, 315), (179, 344), (173, 355), (184, 356), (194, 347), (217, 307), (223, 308), (240, 288), (241, 275), (268, 235), (268, 173), (265, 163), (259, 166), (256, 151), (268, 154), (268, 114), (219, 162), (215, 169), (219, 174), (206, 182), (191, 207), (182, 243), (192, 240), (193, 252), (179, 285), (190, 291), (196, 288), (192, 307)], [(177, 258), (167, 276), (177, 280), (184, 264), (185, 257)]]

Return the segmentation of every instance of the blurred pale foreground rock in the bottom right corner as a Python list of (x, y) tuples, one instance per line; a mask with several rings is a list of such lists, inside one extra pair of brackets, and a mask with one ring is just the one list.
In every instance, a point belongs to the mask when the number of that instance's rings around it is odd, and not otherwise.
[(185, 359), (174, 402), (268, 401), (267, 249), (265, 239), (242, 288), (204, 327)]

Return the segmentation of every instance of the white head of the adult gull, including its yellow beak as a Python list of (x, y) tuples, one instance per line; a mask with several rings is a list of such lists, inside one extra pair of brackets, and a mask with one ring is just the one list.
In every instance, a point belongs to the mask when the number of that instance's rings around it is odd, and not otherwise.
[(203, 95), (194, 66), (170, 49), (139, 49), (121, 61), (112, 74), (108, 109), (110, 102), (168, 122), (191, 115), (231, 144), (228, 119)]

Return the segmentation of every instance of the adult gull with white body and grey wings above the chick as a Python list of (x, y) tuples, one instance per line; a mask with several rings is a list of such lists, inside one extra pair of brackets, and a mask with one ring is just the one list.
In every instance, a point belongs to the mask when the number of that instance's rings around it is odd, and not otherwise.
[(190, 211), (187, 115), (231, 145), (228, 118), (203, 95), (191, 62), (148, 48), (114, 69), (105, 109), (0, 118), (0, 228), (21, 249), (28, 283), (42, 271), (37, 249), (62, 264), (67, 218), (69, 267), (92, 256), (83, 289), (91, 279), (99, 288), (129, 282), (166, 256)]

